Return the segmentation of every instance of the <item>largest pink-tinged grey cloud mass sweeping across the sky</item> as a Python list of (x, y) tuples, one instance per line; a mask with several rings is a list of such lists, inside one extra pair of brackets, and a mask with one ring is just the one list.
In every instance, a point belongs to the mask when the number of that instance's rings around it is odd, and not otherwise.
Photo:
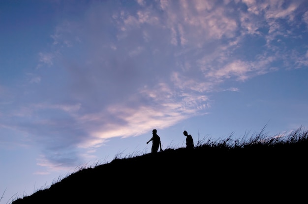
[[(29, 75), (39, 86), (24, 90), (17, 110), (2, 111), (10, 119), (0, 124), (40, 144), (40, 166), (75, 166), (92, 156), (81, 149), (207, 114), (209, 93), (283, 68), (292, 37), (283, 26), (300, 19), (299, 4), (280, 1), (125, 3), (92, 2), (59, 23), (50, 51), (38, 53), (52, 69)], [(293, 62), (307, 65), (307, 48), (300, 55)]]

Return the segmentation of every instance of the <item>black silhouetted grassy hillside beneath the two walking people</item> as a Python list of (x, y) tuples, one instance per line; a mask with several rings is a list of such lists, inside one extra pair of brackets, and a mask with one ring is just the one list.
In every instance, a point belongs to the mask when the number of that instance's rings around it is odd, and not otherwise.
[[(308, 131), (208, 140), (85, 168), (12, 204), (299, 203), (307, 194)], [(304, 202), (305, 203), (305, 202)]]

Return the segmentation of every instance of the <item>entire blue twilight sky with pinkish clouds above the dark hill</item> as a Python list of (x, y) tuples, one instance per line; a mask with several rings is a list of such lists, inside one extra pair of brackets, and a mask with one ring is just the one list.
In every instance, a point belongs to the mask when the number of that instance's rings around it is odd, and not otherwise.
[(307, 128), (307, 77), (307, 0), (0, 0), (0, 203), (153, 129), (165, 150)]

